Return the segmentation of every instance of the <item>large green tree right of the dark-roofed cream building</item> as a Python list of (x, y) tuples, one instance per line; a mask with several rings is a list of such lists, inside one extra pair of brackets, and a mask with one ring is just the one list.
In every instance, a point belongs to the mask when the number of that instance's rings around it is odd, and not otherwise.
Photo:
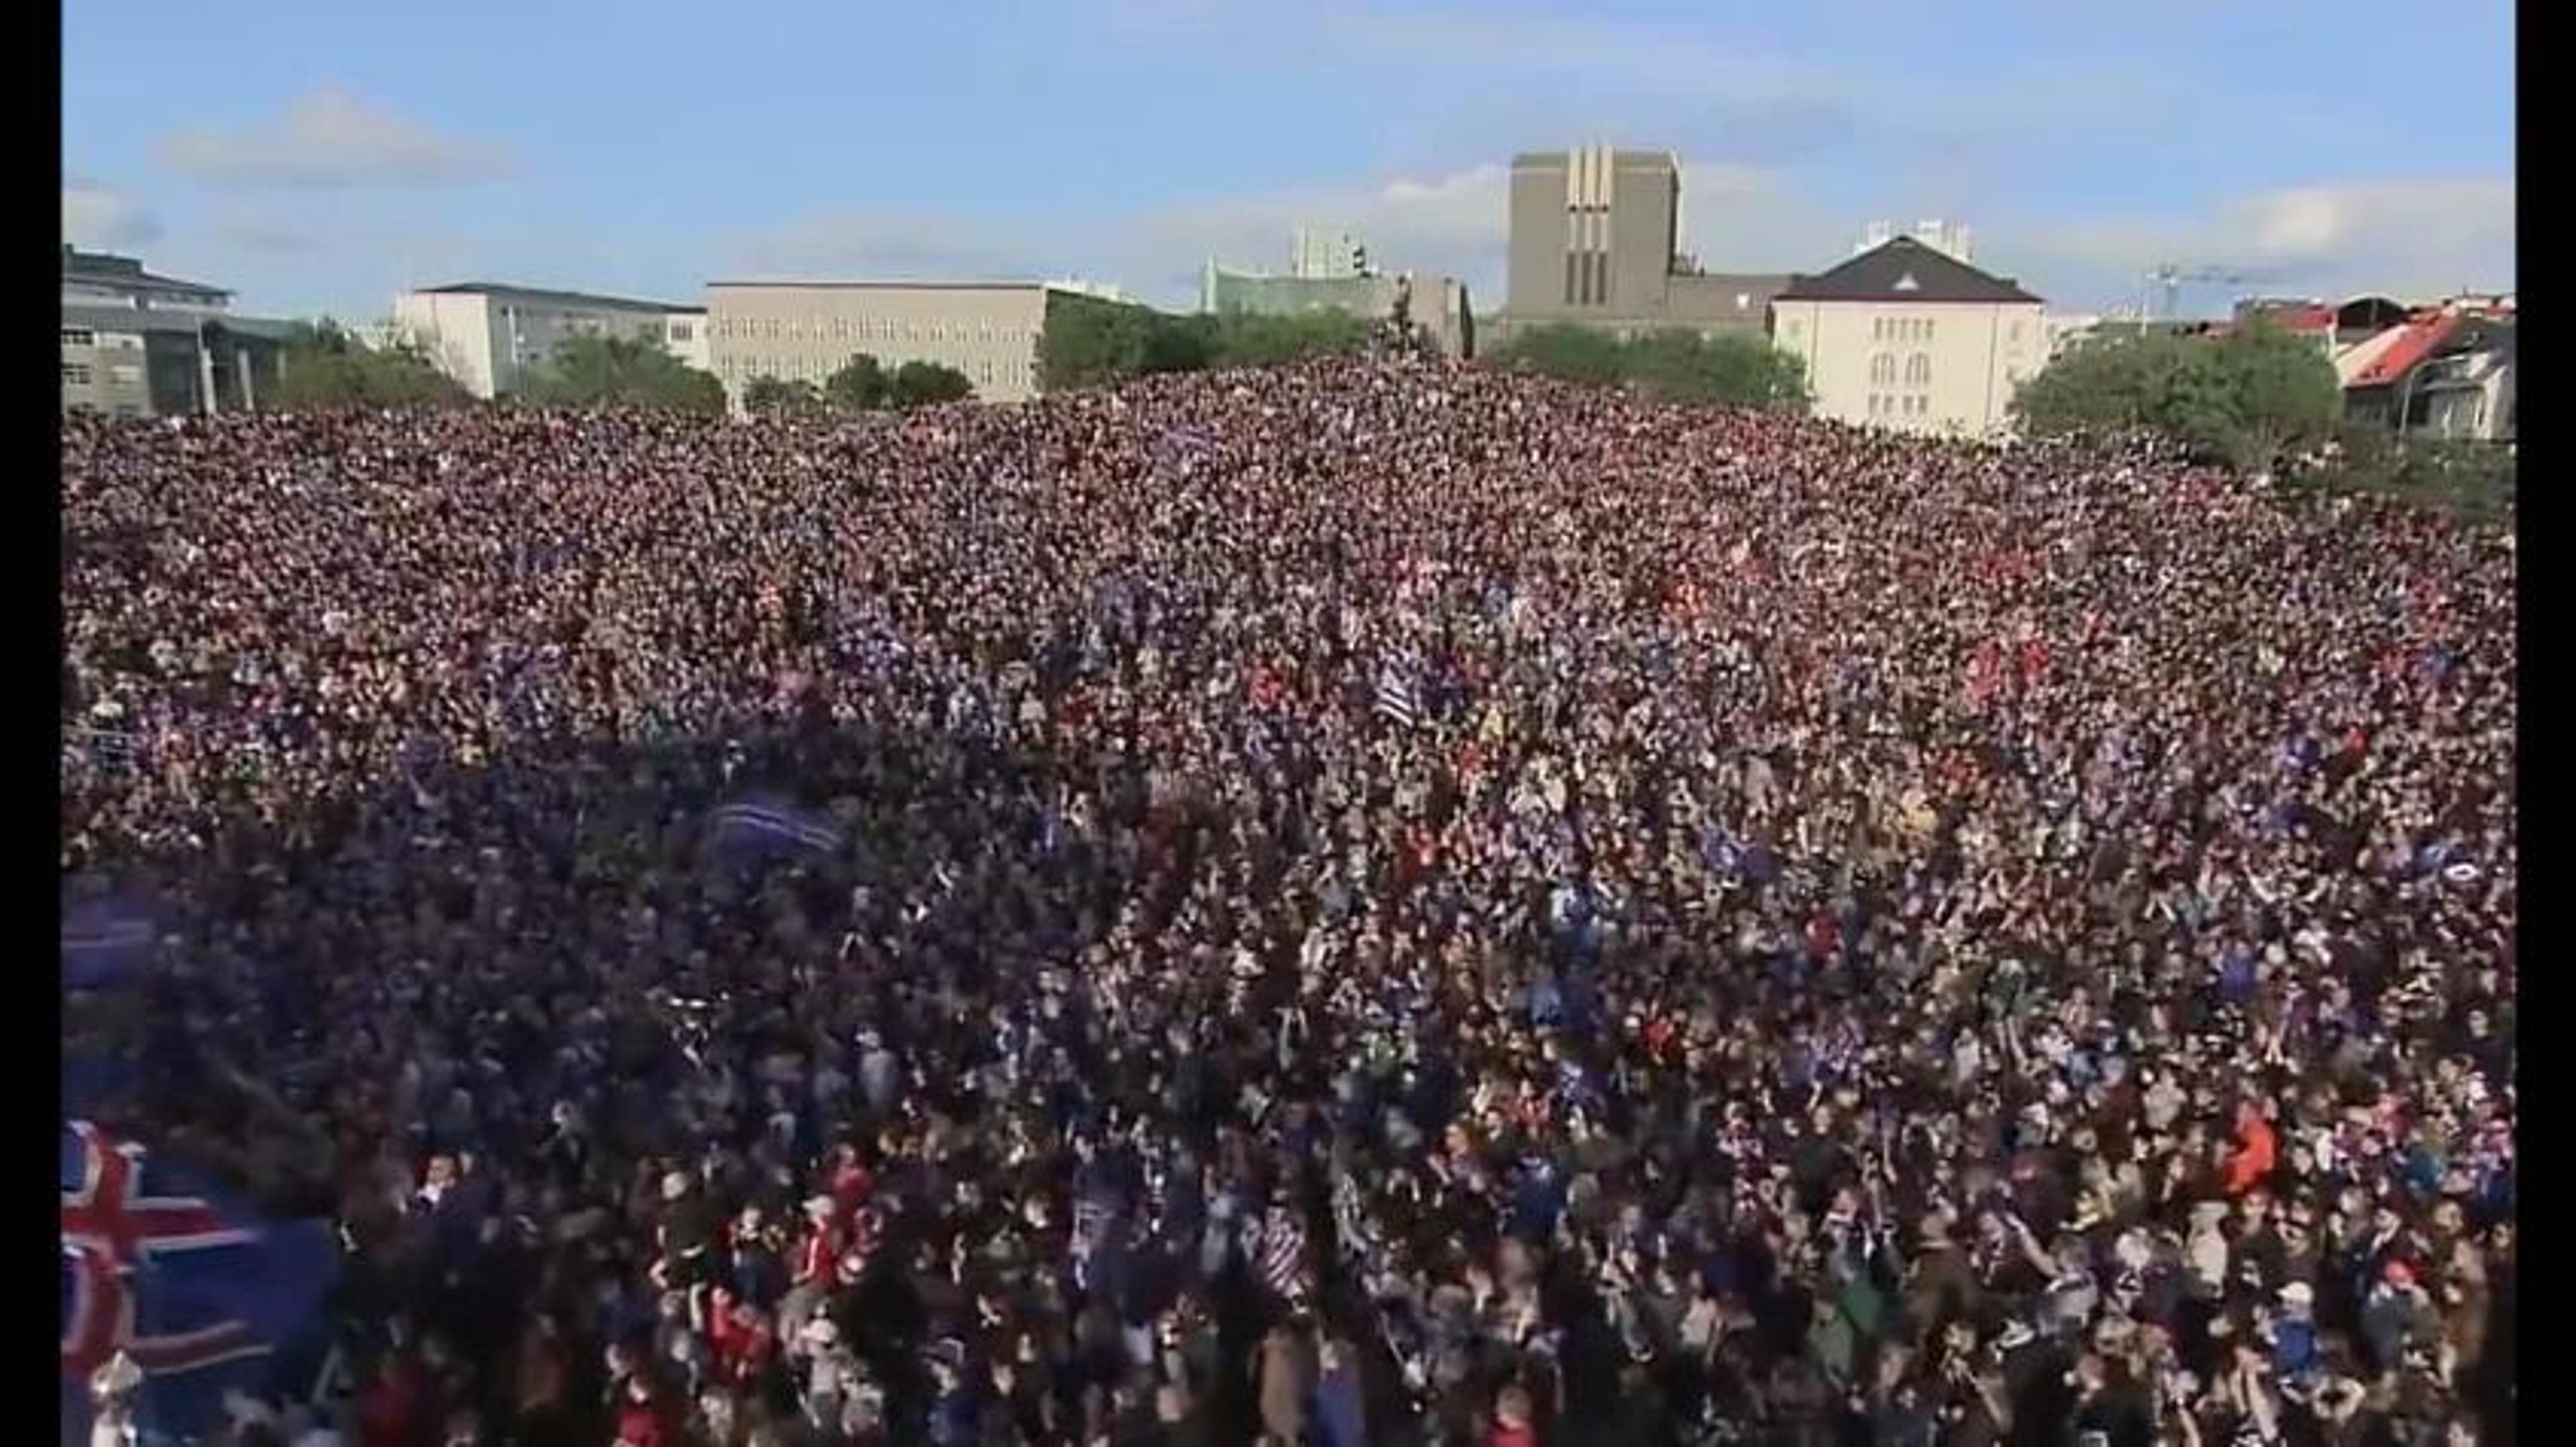
[(2269, 322), (2226, 337), (2136, 330), (2092, 337), (2022, 384), (2012, 409), (2032, 435), (2161, 433), (2244, 471), (2336, 430), (2334, 363)]

